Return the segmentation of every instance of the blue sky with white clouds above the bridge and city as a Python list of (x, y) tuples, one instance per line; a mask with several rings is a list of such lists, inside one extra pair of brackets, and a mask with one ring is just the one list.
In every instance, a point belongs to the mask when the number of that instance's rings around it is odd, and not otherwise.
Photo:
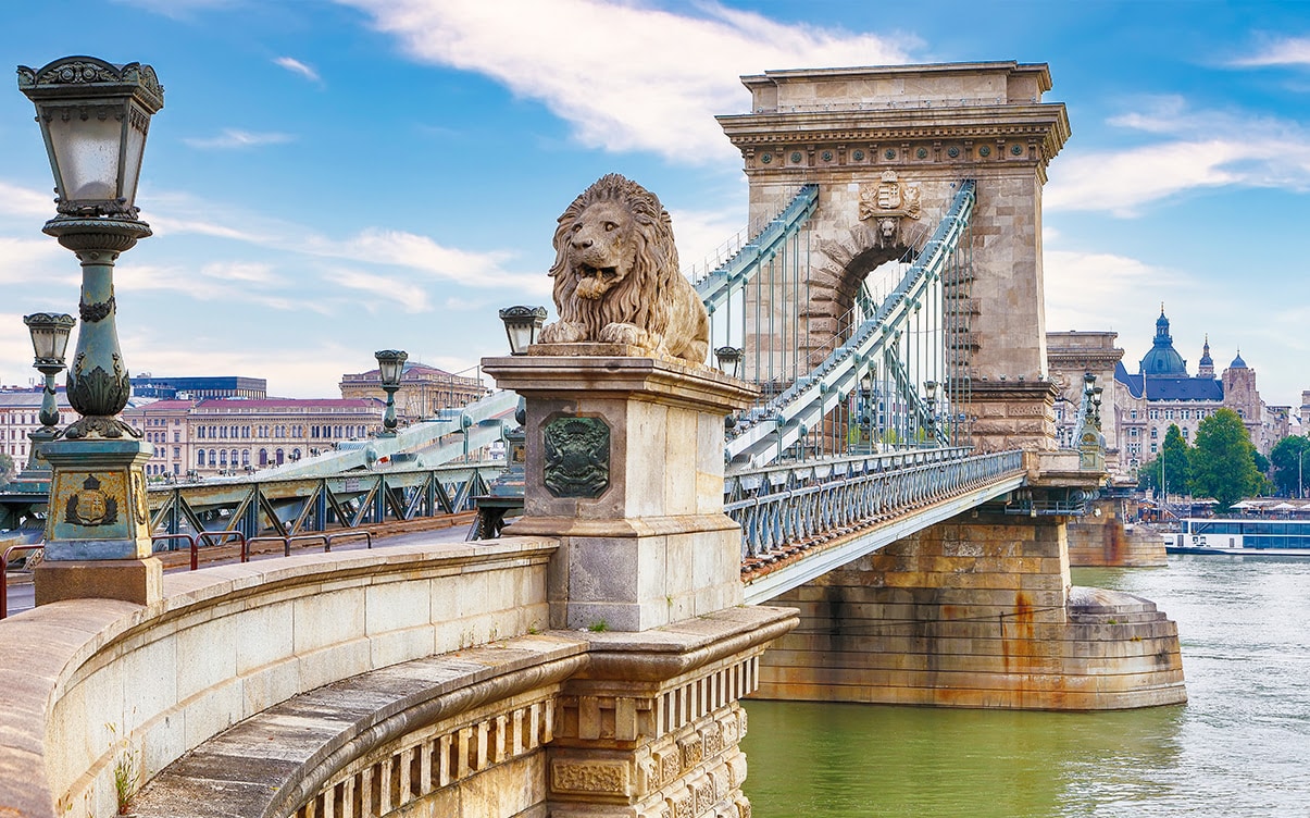
[[(7, 7), (0, 54), (155, 67), (118, 262), (135, 374), (338, 396), (379, 349), (466, 371), (496, 309), (550, 304), (555, 218), (608, 172), (654, 190), (685, 266), (747, 222), (714, 121), (766, 69), (1047, 63), (1073, 136), (1044, 191), (1047, 328), (1115, 330), (1129, 371), (1161, 304), (1195, 372), (1241, 350), (1271, 405), (1310, 389), (1310, 3), (1049, 0), (63, 0)], [(10, 75), (12, 76), (12, 75)], [(41, 233), (31, 104), (0, 93), (0, 384), (21, 316), (76, 313)]]

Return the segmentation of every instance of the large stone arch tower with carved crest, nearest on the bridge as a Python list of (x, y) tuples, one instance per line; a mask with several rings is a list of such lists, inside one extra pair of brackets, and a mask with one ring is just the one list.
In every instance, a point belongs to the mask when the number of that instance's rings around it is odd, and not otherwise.
[[(841, 316), (861, 281), (921, 241), (954, 187), (976, 180), (971, 263), (943, 282), (948, 308), (967, 316), (947, 333), (952, 374), (971, 381), (979, 448), (1051, 448), (1041, 186), (1069, 121), (1062, 104), (1041, 102), (1047, 66), (769, 71), (743, 83), (751, 113), (719, 123), (744, 159), (751, 222), (778, 212), (800, 185), (819, 186), (808, 299), (783, 298), (762, 315), (808, 326), (800, 346), (819, 357), (846, 332)], [(762, 320), (747, 332), (748, 346), (779, 343), (764, 337)]]

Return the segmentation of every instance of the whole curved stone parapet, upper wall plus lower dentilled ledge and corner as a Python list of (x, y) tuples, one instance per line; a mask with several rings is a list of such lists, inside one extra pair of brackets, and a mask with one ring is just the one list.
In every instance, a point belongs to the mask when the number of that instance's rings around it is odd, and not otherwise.
[[(0, 624), (0, 818), (749, 814), (794, 612), (545, 631), (555, 540), (305, 555)], [(144, 789), (138, 788), (144, 784)]]

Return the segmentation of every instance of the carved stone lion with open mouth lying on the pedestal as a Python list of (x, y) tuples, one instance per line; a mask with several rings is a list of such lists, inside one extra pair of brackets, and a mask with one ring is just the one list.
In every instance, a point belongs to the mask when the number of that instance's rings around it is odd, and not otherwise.
[(705, 363), (710, 320), (677, 266), (673, 227), (654, 193), (617, 173), (596, 181), (555, 228), (555, 309), (542, 343), (625, 343)]

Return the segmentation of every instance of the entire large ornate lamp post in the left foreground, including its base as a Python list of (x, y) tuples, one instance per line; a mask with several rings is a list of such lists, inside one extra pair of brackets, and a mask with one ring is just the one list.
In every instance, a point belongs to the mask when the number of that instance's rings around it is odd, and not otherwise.
[(151, 117), (164, 106), (155, 69), (67, 56), (18, 67), (55, 177), (58, 215), (43, 232), (83, 267), (81, 330), (68, 402), (81, 416), (43, 447), (52, 476), (37, 604), (75, 596), (149, 603), (161, 568), (151, 556), (144, 463), (153, 447), (118, 419), (131, 381), (118, 346), (114, 262), (151, 235), (136, 218), (136, 182)]

